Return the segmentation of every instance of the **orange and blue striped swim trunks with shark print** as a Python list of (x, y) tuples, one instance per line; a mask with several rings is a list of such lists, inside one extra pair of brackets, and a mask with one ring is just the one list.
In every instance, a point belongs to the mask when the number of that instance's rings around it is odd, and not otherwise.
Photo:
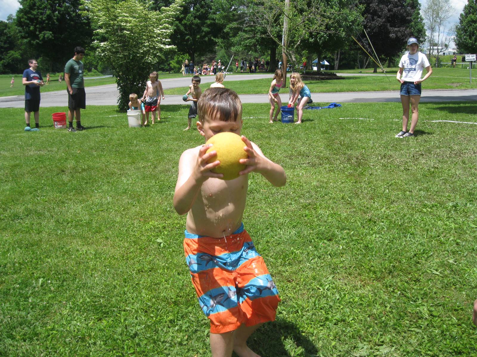
[(278, 290), (243, 223), (224, 238), (187, 230), (185, 236), (186, 262), (200, 307), (210, 320), (210, 332), (275, 320)]

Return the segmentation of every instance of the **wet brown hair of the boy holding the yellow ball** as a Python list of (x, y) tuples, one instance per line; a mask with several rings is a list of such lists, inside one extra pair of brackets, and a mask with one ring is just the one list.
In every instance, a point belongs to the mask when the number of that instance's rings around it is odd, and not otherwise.
[(228, 88), (209, 88), (197, 102), (199, 119), (237, 121), (242, 118), (242, 102), (233, 90)]

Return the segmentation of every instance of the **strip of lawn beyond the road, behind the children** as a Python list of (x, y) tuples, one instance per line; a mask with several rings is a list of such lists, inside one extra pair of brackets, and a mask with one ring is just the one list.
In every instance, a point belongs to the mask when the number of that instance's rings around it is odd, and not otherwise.
[[(342, 70), (340, 73), (356, 73), (357, 70)], [(373, 72), (373, 69), (367, 70), (366, 73)], [(477, 71), (475, 71), (477, 72)], [(466, 77), (467, 76), (467, 77)], [(475, 76), (475, 74), (474, 74)], [(473, 76), (473, 77), (474, 77)], [(227, 88), (235, 90), (239, 94), (263, 94), (267, 93), (273, 74), (270, 73), (270, 79), (248, 79), (228, 81), (227, 77), (224, 85)], [(358, 92), (373, 90), (397, 90), (399, 83), (396, 80), (396, 69), (389, 69), (387, 74), (382, 73), (380, 76), (356, 76), (343, 77), (343, 79), (333, 80), (316, 80), (304, 81), (312, 93), (327, 92)], [(288, 86), (288, 81), (287, 81)], [(204, 83), (200, 88), (204, 91), (210, 87), (210, 83)], [(431, 77), (423, 83), (425, 89), (475, 89), (477, 88), (477, 79), (473, 78), (472, 84), (469, 83), (469, 70), (459, 68), (436, 68), (433, 69)], [(188, 88), (166, 89), (166, 95), (178, 95), (187, 93)]]

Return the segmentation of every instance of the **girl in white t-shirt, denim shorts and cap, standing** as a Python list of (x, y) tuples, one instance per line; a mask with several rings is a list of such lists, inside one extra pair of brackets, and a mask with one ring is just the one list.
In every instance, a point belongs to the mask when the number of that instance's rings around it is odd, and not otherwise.
[[(414, 129), (417, 124), (419, 100), (421, 99), (421, 82), (425, 81), (432, 74), (432, 68), (424, 54), (418, 52), (419, 43), (414, 37), (407, 40), (407, 52), (399, 61), (399, 71), (396, 79), (401, 83), (401, 104), (403, 105), (403, 129), (396, 135), (396, 138), (407, 138), (414, 136)], [(423, 69), (427, 71), (421, 79)], [(402, 76), (402, 77), (401, 77)], [(411, 128), (407, 131), (409, 121), (409, 103), (411, 104)]]

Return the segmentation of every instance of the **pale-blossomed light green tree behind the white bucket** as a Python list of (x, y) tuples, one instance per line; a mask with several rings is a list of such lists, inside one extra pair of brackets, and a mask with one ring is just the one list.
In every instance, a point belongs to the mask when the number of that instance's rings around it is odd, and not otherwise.
[(160, 11), (149, 10), (150, 0), (90, 0), (86, 5), (95, 28), (96, 54), (116, 77), (119, 109), (127, 109), (129, 94), (140, 96), (157, 61), (174, 49), (169, 36), (183, 1)]

